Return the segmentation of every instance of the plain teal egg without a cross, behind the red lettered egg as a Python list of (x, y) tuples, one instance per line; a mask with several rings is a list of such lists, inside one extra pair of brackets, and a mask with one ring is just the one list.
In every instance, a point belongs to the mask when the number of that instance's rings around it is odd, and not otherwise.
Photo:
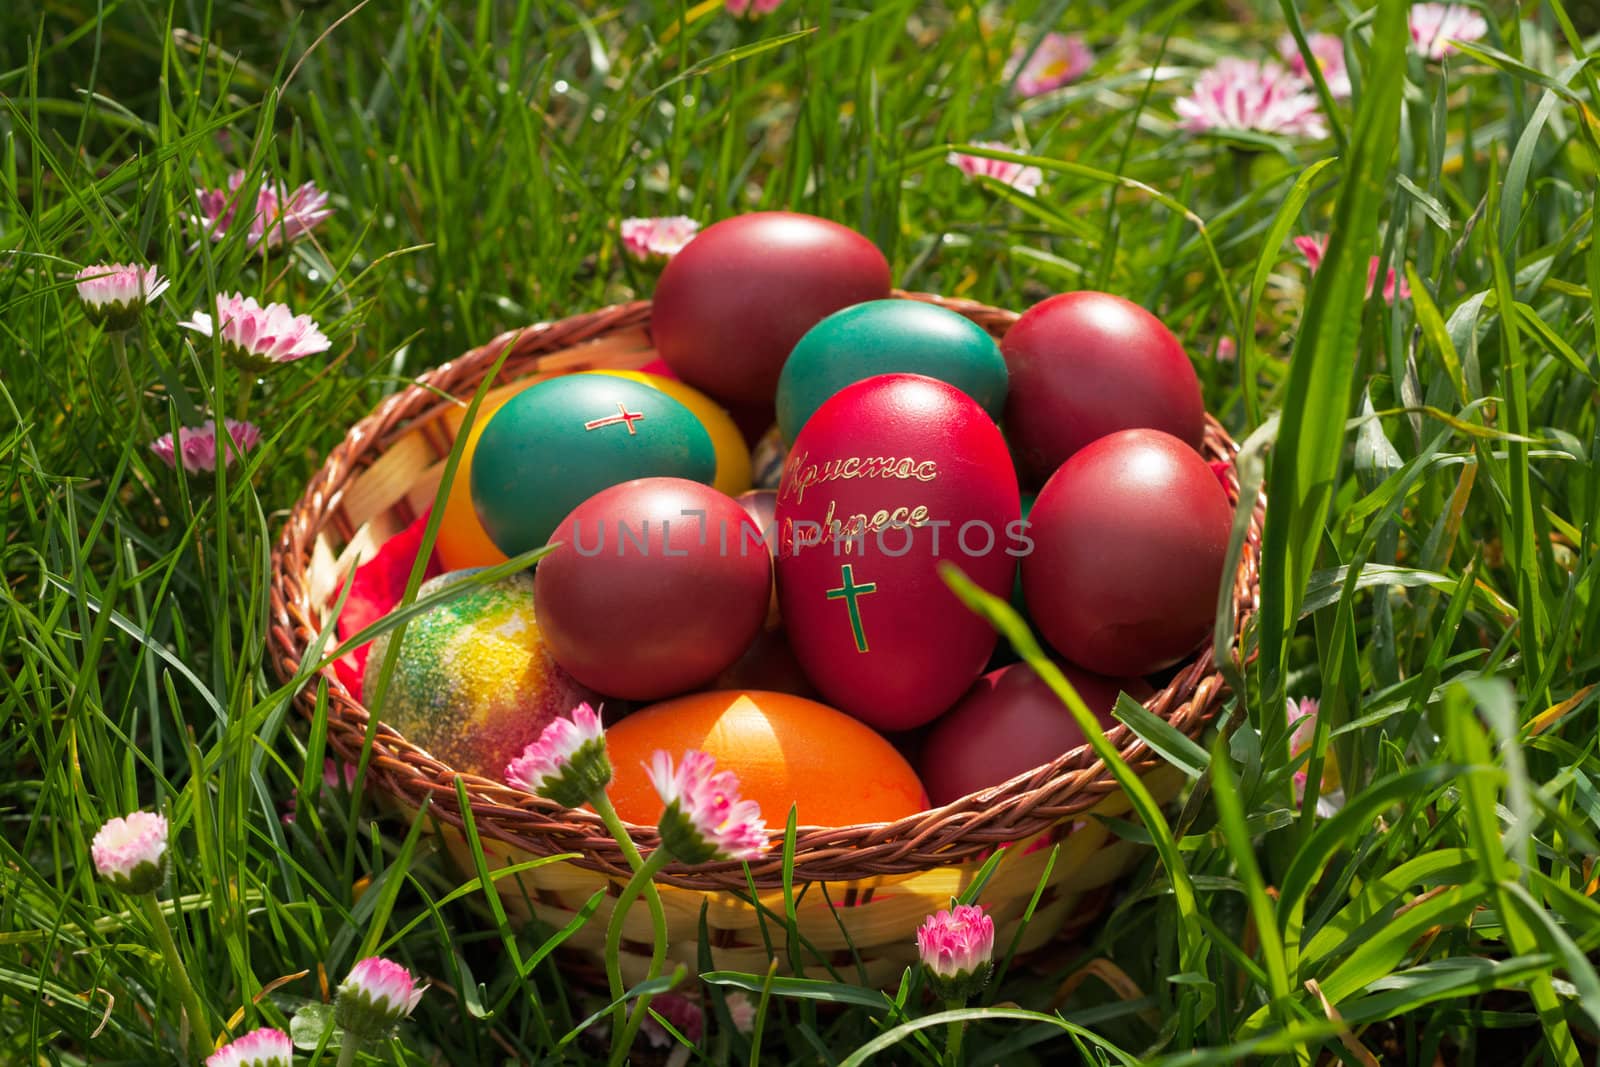
[(874, 374), (926, 374), (965, 392), (992, 419), (1005, 410), (1005, 358), (982, 326), (922, 301), (867, 301), (811, 326), (789, 354), (778, 379), (784, 440), (824, 400)]

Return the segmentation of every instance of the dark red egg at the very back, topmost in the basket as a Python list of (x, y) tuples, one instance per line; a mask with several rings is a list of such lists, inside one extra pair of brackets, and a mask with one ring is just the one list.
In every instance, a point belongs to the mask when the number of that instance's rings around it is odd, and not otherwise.
[(806, 330), (890, 294), (890, 264), (861, 234), (792, 211), (701, 230), (656, 283), (651, 336), (690, 386), (730, 405), (770, 405)]

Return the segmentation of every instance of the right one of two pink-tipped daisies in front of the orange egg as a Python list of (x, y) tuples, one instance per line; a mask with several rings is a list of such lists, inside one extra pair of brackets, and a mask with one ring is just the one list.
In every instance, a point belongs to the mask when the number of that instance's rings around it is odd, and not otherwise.
[(672, 766), (662, 750), (650, 760), (650, 781), (667, 806), (661, 813), (661, 846), (685, 864), (757, 859), (766, 851), (766, 824), (754, 800), (739, 798), (733, 771), (715, 771), (704, 752), (683, 753)]

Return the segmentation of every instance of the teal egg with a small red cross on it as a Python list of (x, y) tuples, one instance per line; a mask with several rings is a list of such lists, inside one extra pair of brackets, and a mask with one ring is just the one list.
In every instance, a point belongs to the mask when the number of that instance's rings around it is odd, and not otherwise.
[(608, 374), (565, 374), (494, 413), (472, 456), (472, 504), (506, 555), (538, 549), (600, 490), (632, 478), (709, 483), (710, 435), (659, 389)]

